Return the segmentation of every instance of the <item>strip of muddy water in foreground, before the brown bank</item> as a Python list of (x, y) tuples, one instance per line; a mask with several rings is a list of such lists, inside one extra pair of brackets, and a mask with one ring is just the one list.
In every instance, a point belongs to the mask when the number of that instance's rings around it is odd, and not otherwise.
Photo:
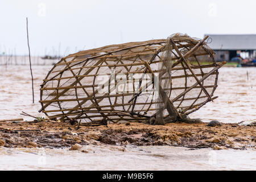
[(0, 170), (256, 170), (255, 151), (170, 146), (85, 146), (67, 149), (0, 148)]

